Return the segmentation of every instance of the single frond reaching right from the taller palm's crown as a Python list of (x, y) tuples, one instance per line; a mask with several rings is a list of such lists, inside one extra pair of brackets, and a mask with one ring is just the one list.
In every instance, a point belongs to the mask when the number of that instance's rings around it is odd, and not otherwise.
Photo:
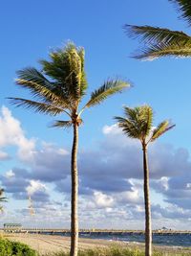
[(90, 101), (83, 107), (91, 107), (101, 104), (109, 96), (117, 92), (121, 92), (124, 88), (130, 87), (130, 83), (127, 81), (110, 80), (104, 82), (102, 86), (96, 89), (92, 95)]

